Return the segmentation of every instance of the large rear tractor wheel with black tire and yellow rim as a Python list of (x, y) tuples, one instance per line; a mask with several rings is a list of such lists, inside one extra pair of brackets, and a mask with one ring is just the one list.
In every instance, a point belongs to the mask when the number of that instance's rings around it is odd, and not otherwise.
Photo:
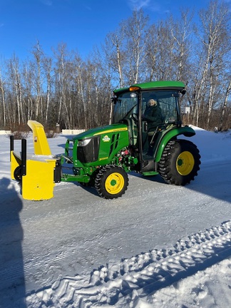
[(200, 170), (200, 154), (197, 146), (188, 140), (172, 140), (163, 151), (159, 173), (165, 182), (186, 185), (194, 180)]

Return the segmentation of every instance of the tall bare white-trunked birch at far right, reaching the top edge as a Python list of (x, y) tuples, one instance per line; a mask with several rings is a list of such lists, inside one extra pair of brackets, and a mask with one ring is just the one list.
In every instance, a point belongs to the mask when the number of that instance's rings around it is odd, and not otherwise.
[[(200, 33), (198, 37), (202, 43), (199, 51), (199, 68), (197, 84), (195, 86), (195, 110), (198, 117), (198, 104), (200, 115), (206, 115), (206, 128), (210, 126), (212, 108), (217, 101), (225, 57), (230, 51), (230, 37), (228, 33), (230, 12), (225, 3), (211, 1), (208, 9), (200, 11)], [(198, 122), (198, 120), (197, 120)], [(198, 123), (197, 123), (198, 124)]]

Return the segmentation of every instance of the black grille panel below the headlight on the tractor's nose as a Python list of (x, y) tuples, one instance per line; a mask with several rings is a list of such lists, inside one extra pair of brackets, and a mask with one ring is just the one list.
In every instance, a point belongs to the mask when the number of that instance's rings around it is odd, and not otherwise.
[(81, 163), (91, 163), (98, 160), (100, 136), (92, 138), (86, 146), (77, 147), (77, 158)]

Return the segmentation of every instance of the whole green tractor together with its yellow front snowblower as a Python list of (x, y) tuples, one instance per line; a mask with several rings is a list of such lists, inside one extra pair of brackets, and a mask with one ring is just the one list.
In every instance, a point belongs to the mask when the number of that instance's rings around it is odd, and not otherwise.
[(11, 137), (11, 178), (20, 181), (22, 196), (29, 200), (53, 197), (53, 187), (61, 181), (94, 186), (106, 199), (120, 197), (130, 171), (160, 174), (166, 183), (186, 185), (200, 170), (200, 153), (194, 143), (179, 138), (195, 135), (181, 122), (179, 99), (184, 94), (180, 81), (115, 90), (113, 124), (68, 138), (61, 156), (51, 154), (43, 125), (29, 120), (34, 154), (26, 153), (24, 139), (21, 153), (15, 153)]

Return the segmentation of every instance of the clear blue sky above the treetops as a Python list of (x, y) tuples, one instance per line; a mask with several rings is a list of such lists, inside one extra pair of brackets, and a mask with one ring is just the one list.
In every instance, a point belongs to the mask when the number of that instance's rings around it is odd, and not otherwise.
[[(230, 0), (226, 0), (230, 1)], [(210, 0), (0, 0), (0, 57), (29, 56), (37, 41), (43, 51), (66, 43), (85, 57), (133, 9), (143, 8), (150, 21), (178, 16), (180, 7), (201, 9)]]

